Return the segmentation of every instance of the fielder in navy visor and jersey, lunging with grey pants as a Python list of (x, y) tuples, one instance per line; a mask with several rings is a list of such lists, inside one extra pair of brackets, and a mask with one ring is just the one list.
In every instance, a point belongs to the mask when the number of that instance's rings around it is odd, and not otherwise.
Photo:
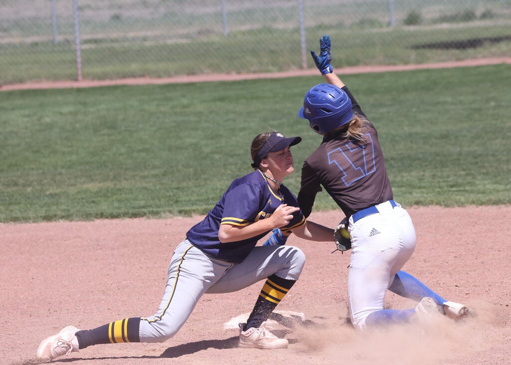
[(265, 321), (300, 276), (305, 255), (293, 246), (257, 246), (273, 228), (313, 241), (332, 241), (333, 229), (307, 222), (296, 197), (282, 185), (294, 171), (290, 146), (300, 137), (264, 133), (252, 141), (254, 171), (231, 183), (207, 216), (190, 228), (172, 255), (163, 298), (154, 316), (125, 318), (95, 329), (73, 326), (43, 340), (37, 357), (53, 360), (91, 345), (163, 342), (177, 333), (204, 293), (230, 293), (266, 280), (239, 347), (288, 346)]

